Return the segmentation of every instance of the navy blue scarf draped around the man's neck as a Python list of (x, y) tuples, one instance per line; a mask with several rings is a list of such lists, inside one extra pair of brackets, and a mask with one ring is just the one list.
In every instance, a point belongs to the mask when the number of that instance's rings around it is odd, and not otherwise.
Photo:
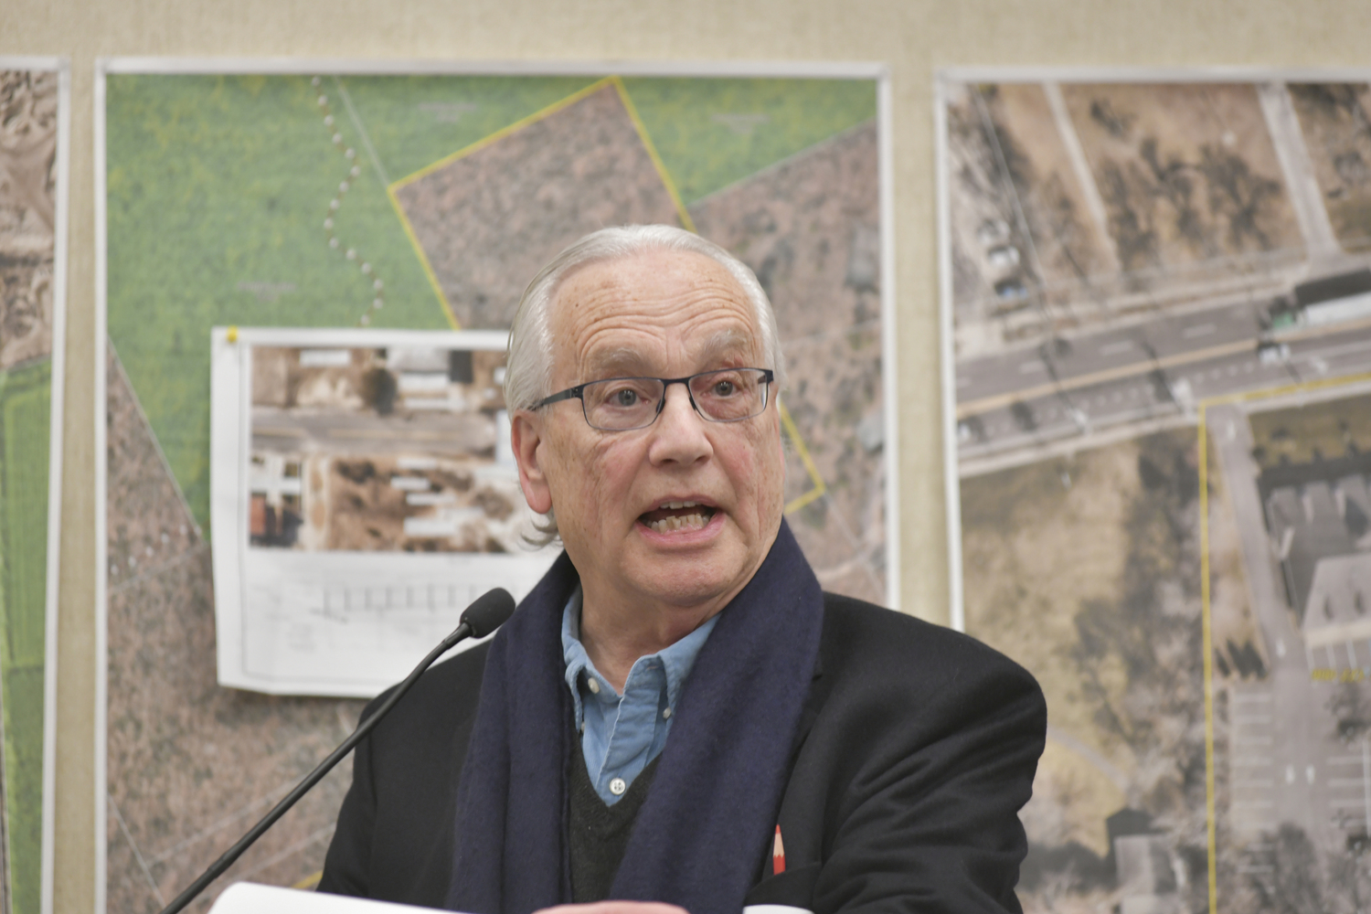
[[(580, 744), (561, 621), (576, 582), (563, 554), (491, 643), (458, 787), (452, 910), (529, 914), (572, 900), (566, 770)], [(611, 898), (742, 910), (769, 854), (823, 617), (818, 581), (781, 522), (701, 648)]]

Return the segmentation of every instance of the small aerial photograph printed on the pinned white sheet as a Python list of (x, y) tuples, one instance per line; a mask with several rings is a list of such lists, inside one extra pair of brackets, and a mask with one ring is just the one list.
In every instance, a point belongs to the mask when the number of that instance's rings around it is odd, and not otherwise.
[[(518, 477), (491, 471), (513, 462), (495, 456), (509, 454), (496, 441), (507, 426), (496, 421), (503, 395), (492, 380), (505, 354), (384, 352), (254, 349), (251, 543), (348, 552), (520, 549), (533, 529), (520, 525), (528, 507)], [(489, 399), (480, 396), (487, 391)], [(332, 447), (308, 447), (314, 441)], [(302, 485), (313, 478), (324, 484)]]

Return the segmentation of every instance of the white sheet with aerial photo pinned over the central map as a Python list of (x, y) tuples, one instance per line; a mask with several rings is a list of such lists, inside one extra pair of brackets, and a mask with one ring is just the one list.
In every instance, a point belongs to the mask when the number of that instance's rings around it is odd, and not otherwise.
[[(533, 549), (496, 378), (505, 333), (215, 328), (221, 685), (367, 697)], [(458, 648), (462, 650), (462, 648)]]

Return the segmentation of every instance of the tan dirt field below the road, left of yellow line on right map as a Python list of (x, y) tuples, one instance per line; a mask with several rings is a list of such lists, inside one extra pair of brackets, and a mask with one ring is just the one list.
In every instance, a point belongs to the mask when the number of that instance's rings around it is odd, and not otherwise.
[(961, 493), (967, 630), (1038, 677), (1052, 721), (1023, 814), (1026, 910), (1119, 902), (1117, 813), (1165, 835), (1202, 885), (1193, 433), (967, 478)]

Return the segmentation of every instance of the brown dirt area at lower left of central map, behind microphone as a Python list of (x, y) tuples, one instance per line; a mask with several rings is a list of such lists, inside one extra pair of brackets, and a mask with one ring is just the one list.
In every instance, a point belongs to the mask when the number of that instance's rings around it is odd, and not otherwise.
[[(118, 360), (108, 366), (108, 910), (154, 914), (352, 730), (362, 702), (219, 688), (210, 549)], [(318, 872), (351, 759), (195, 904)]]

